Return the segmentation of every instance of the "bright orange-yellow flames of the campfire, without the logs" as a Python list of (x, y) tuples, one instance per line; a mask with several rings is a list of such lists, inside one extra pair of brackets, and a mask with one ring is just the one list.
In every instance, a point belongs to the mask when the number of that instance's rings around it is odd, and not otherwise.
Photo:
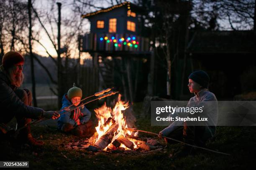
[[(125, 136), (126, 134), (128, 134), (128, 135), (137, 136), (138, 132), (133, 134), (129, 130), (124, 130), (128, 128), (128, 126), (126, 124), (125, 117), (123, 116), (122, 111), (126, 110), (128, 107), (129, 107), (129, 102), (122, 101), (121, 95), (119, 94), (118, 100), (113, 110), (111, 109), (111, 107), (107, 107), (106, 103), (104, 103), (104, 105), (94, 110), (96, 113), (96, 117), (98, 119), (98, 126), (95, 128), (98, 133), (97, 140), (113, 125), (112, 122), (109, 122), (107, 125), (104, 125), (104, 123), (108, 120), (109, 117), (112, 117), (115, 120), (115, 123), (118, 125), (118, 130), (115, 132), (115, 135), (111, 143), (115, 139), (117, 139), (120, 135)], [(134, 148), (137, 148), (137, 145), (134, 142), (133, 142), (133, 145), (134, 145)], [(120, 147), (129, 149), (123, 144), (121, 144)], [(106, 150), (107, 148), (108, 147), (106, 147), (104, 150)]]

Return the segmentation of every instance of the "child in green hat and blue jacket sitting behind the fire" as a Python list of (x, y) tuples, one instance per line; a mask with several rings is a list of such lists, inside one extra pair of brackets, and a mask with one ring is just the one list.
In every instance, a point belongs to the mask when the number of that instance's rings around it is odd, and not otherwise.
[[(61, 109), (74, 103), (75, 104), (71, 106), (70, 109), (76, 107), (80, 104), (81, 98), (82, 89), (76, 87), (74, 84), (73, 87), (64, 94)], [(62, 112), (65, 112), (65, 110)], [(92, 127), (90, 117), (91, 112), (85, 106), (81, 106), (71, 112), (61, 115), (58, 120), (58, 129), (66, 133), (71, 132), (79, 137), (90, 137)]]

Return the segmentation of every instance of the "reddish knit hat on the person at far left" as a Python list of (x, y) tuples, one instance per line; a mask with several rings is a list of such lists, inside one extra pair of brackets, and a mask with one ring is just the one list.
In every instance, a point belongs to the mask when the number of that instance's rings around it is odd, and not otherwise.
[(3, 67), (5, 69), (12, 67), (13, 65), (18, 64), (19, 62), (24, 62), (24, 58), (22, 55), (20, 55), (20, 53), (16, 51), (9, 51), (5, 53), (2, 60)]

